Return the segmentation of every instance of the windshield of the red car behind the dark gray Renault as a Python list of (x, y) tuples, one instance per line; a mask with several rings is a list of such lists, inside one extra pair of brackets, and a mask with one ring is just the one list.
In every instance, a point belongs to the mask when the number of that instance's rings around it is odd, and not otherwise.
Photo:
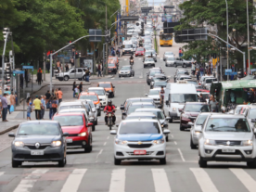
[(58, 121), (61, 126), (83, 125), (83, 117), (81, 115), (55, 116), (54, 121)]

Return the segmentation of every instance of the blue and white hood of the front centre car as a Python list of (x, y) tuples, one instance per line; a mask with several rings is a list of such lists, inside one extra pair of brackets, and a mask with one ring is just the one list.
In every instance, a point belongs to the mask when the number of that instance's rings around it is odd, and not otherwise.
[(119, 134), (118, 139), (124, 141), (152, 141), (162, 138), (162, 134)]

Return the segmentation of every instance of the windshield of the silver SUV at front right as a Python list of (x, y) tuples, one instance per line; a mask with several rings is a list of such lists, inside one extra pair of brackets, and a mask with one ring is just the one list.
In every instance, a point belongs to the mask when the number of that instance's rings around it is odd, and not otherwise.
[(242, 118), (210, 118), (206, 132), (250, 132), (246, 119)]

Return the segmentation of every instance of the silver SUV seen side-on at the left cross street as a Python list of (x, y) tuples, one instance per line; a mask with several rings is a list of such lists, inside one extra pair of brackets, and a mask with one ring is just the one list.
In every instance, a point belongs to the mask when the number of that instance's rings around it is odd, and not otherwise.
[(59, 81), (69, 81), (69, 79), (78, 79), (79, 81), (85, 80), (85, 68), (70, 69), (67, 72), (59, 72), (56, 75)]

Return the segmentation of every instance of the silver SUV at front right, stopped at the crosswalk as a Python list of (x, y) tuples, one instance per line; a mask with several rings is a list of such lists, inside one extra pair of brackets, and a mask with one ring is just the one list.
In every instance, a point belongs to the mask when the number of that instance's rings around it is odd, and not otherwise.
[(255, 131), (244, 116), (210, 115), (198, 140), (199, 166), (207, 167), (207, 161), (246, 161), (256, 168)]

